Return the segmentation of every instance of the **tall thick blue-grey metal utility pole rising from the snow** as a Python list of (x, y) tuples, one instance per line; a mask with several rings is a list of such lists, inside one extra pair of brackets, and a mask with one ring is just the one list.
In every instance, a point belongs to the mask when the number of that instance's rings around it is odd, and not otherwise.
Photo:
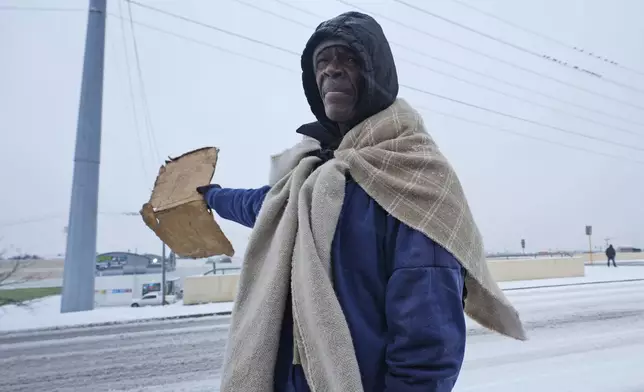
[(106, 0), (90, 0), (76, 126), (61, 313), (94, 309), (105, 22)]

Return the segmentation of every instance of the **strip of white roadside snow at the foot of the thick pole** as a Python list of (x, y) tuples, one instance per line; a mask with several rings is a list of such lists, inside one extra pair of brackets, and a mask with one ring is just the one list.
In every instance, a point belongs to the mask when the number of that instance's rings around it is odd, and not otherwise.
[(88, 324), (119, 323), (230, 312), (232, 302), (183, 306), (181, 302), (168, 306), (141, 308), (104, 307), (86, 312), (60, 313), (60, 295), (31, 301), (26, 307), (0, 307), (0, 331), (72, 327)]

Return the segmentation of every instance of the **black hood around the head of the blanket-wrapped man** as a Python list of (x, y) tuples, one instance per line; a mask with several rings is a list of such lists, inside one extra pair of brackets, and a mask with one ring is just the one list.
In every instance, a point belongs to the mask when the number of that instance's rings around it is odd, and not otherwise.
[(320, 140), (320, 135), (310, 134), (307, 131), (317, 131), (317, 133), (326, 131), (331, 135), (325, 135), (323, 138), (328, 140), (330, 136), (339, 144), (342, 135), (337, 124), (329, 120), (324, 112), (324, 103), (320, 97), (313, 70), (313, 52), (322, 41), (330, 38), (346, 42), (362, 61), (364, 85), (358, 100), (356, 111), (358, 118), (355, 119), (354, 124), (350, 124), (351, 126), (357, 125), (394, 103), (398, 96), (398, 74), (385, 33), (378, 22), (369, 15), (347, 12), (322, 22), (315, 29), (304, 48), (301, 63), (304, 94), (319, 125), (306, 124), (300, 127), (298, 132)]

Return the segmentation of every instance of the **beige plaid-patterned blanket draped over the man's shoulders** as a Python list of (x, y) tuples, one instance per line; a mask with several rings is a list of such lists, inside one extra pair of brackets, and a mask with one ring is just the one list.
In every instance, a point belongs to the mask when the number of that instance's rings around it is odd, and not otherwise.
[[(465, 310), (482, 325), (525, 339), (518, 313), (493, 280), (461, 185), (399, 99), (343, 139), (335, 159), (316, 168), (319, 148), (305, 138), (273, 157), (271, 191), (244, 258), (222, 376), (222, 392), (273, 390), (288, 290), (296, 359), (313, 392), (362, 391), (346, 320), (333, 290), (330, 250), (347, 171), (389, 214), (449, 250), (467, 269)], [(431, 315), (427, 315), (431, 317)]]

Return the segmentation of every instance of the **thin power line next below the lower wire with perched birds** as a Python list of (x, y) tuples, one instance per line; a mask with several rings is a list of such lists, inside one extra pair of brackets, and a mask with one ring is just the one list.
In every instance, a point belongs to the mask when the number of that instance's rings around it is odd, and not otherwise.
[(394, 19), (394, 18), (390, 18), (390, 17), (388, 17), (388, 16), (386, 16), (386, 15), (383, 15), (383, 14), (381, 14), (381, 13), (376, 13), (376, 12), (373, 12), (373, 11), (367, 10), (367, 9), (365, 9), (365, 8), (363, 8), (363, 7), (360, 7), (360, 6), (357, 6), (357, 5), (355, 5), (355, 4), (352, 4), (352, 3), (350, 3), (350, 2), (348, 2), (348, 1), (346, 1), (346, 0), (335, 0), (335, 1), (337, 1), (337, 2), (339, 2), (339, 3), (342, 3), (342, 4), (346, 5), (346, 6), (353, 7), (353, 8), (359, 9), (359, 10), (362, 10), (363, 12), (371, 13), (372, 15), (376, 15), (376, 16), (377, 16), (377, 17), (379, 17), (379, 18), (382, 18), (382, 19), (384, 19), (384, 20), (388, 20), (388, 21), (389, 21), (389, 22), (391, 22), (391, 23), (394, 23), (394, 24), (397, 24), (397, 25), (402, 26), (402, 27), (404, 27), (404, 28), (407, 28), (407, 29), (410, 29), (410, 30), (416, 31), (416, 32), (418, 32), (418, 33), (420, 33), (420, 34), (423, 34), (423, 35), (427, 36), (427, 37), (430, 37), (430, 38), (433, 38), (433, 39), (436, 39), (436, 40), (439, 40), (439, 41), (442, 41), (442, 42), (448, 43), (448, 44), (450, 44), (450, 45), (452, 45), (452, 46), (456, 46), (456, 47), (461, 48), (461, 49), (463, 49), (463, 50), (466, 50), (466, 51), (468, 51), (468, 52), (472, 52), (472, 53), (478, 54), (479, 56), (482, 56), (482, 57), (488, 58), (488, 59), (490, 59), (490, 60), (493, 60), (493, 61), (499, 62), (499, 63), (501, 63), (501, 64), (505, 64), (505, 65), (510, 66), (510, 67), (512, 67), (512, 68), (516, 68), (516, 69), (522, 70), (522, 71), (524, 71), (524, 72), (527, 72), (527, 73), (530, 73), (530, 74), (533, 74), (533, 75), (537, 75), (537, 76), (540, 76), (540, 77), (543, 77), (543, 78), (546, 78), (546, 79), (552, 80), (552, 81), (557, 82), (557, 83), (559, 83), (559, 84), (562, 84), (562, 85), (564, 85), (564, 86), (568, 86), (568, 87), (574, 88), (574, 89), (576, 89), (576, 90), (584, 91), (584, 92), (586, 92), (586, 93), (588, 93), (588, 94), (592, 94), (592, 95), (595, 95), (595, 96), (598, 96), (598, 97), (604, 98), (604, 99), (609, 100), (609, 101), (614, 101), (614, 102), (620, 103), (620, 104), (622, 104), (622, 105), (626, 105), (626, 106), (633, 107), (633, 108), (638, 109), (638, 110), (644, 110), (644, 107), (642, 107), (642, 106), (634, 105), (634, 104), (632, 104), (632, 103), (630, 103), (630, 102), (622, 101), (622, 100), (620, 100), (620, 99), (617, 99), (617, 98), (614, 98), (614, 97), (611, 97), (611, 96), (608, 96), (608, 95), (604, 95), (604, 94), (598, 93), (598, 92), (596, 92), (596, 91), (593, 91), (593, 90), (587, 89), (587, 88), (585, 88), (585, 87), (577, 86), (577, 85), (572, 84), (572, 83), (568, 83), (568, 82), (566, 82), (566, 81), (564, 81), (564, 80), (557, 79), (557, 78), (555, 78), (555, 77), (553, 77), (553, 76), (546, 75), (546, 74), (543, 74), (543, 73), (538, 72), (538, 71), (534, 71), (534, 70), (532, 70), (532, 69), (530, 69), (530, 68), (523, 67), (523, 66), (521, 66), (521, 65), (519, 65), (519, 64), (515, 64), (515, 63), (513, 63), (513, 62), (511, 62), (511, 61), (503, 60), (502, 58), (499, 58), (499, 57), (496, 57), (496, 56), (492, 56), (492, 55), (487, 54), (487, 53), (485, 53), (485, 52), (482, 52), (482, 51), (480, 51), (480, 50), (477, 50), (477, 49), (474, 49), (474, 48), (470, 48), (470, 47), (468, 47), (468, 46), (466, 46), (466, 45), (463, 45), (463, 44), (460, 44), (460, 43), (458, 43), (458, 42), (455, 42), (455, 41), (449, 40), (449, 39), (447, 39), (447, 38), (440, 37), (440, 36), (438, 36), (438, 35), (432, 34), (432, 33), (428, 32), (428, 31), (425, 31), (425, 30), (419, 29), (419, 28), (417, 28), (417, 27), (410, 26), (410, 25), (408, 25), (407, 23), (400, 22), (400, 21), (398, 21), (398, 20), (396, 20), (396, 19)]

